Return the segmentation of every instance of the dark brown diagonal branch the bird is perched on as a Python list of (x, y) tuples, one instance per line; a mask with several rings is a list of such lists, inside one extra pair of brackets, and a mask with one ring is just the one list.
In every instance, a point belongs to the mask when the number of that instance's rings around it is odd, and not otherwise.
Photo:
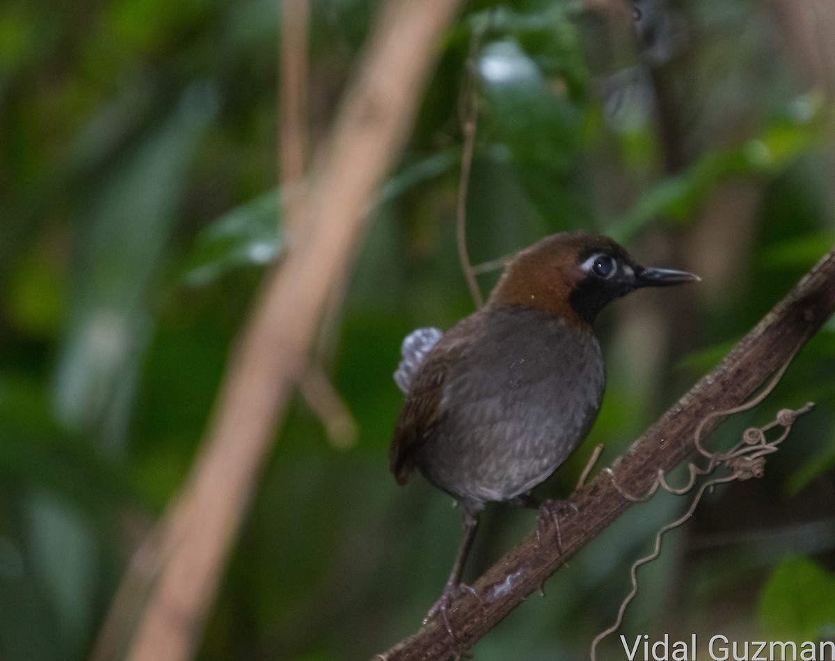
[[(668, 471), (694, 450), (696, 428), (711, 412), (741, 404), (782, 364), (792, 358), (835, 312), (835, 249), (823, 257), (791, 292), (728, 353), (726, 358), (691, 388), (640, 439), (615, 460), (611, 470), (620, 486), (645, 493), (658, 470)], [(702, 431), (719, 424), (708, 419)], [(450, 609), (449, 619), (458, 638), (450, 638), (435, 618), (377, 659), (448, 658), (482, 638), (505, 615), (538, 589), (569, 557), (579, 551), (630, 506), (610, 475), (598, 477), (571, 498), (577, 506), (560, 520), (562, 553), (540, 547), (534, 532), (496, 562), (474, 583), (478, 599), (465, 594)], [(479, 604), (479, 600), (481, 603)]]

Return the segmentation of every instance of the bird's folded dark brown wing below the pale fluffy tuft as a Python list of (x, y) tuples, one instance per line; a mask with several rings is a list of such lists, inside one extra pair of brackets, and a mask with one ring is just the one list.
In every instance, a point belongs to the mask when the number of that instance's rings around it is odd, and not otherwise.
[[(443, 339), (438, 344), (443, 343)], [(392, 435), (389, 469), (398, 484), (406, 484), (414, 470), (415, 452), (423, 445), (443, 416), (441, 395), (447, 377), (448, 356), (443, 346), (428, 353), (412, 379), (400, 418)]]

